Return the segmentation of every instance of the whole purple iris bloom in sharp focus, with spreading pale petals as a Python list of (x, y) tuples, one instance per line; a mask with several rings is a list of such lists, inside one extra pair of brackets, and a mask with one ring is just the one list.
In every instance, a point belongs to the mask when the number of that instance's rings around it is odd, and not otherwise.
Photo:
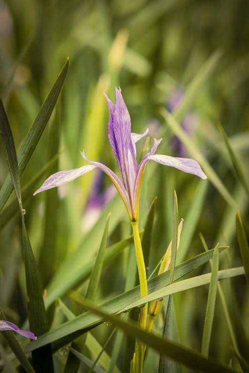
[(34, 195), (41, 191), (71, 182), (81, 175), (98, 168), (110, 177), (124, 201), (130, 221), (135, 222), (138, 220), (142, 177), (145, 166), (149, 161), (155, 161), (164, 166), (175, 167), (178, 170), (196, 175), (202, 179), (207, 178), (200, 165), (193, 159), (154, 154), (162, 139), (154, 139), (154, 145), (151, 151), (148, 152), (143, 157), (140, 164), (137, 165), (135, 143), (146, 136), (148, 129), (142, 134), (131, 132), (130, 116), (124, 103), (121, 89), (116, 88), (116, 103), (113, 103), (107, 95), (105, 96), (110, 111), (108, 138), (118, 162), (121, 179), (102, 163), (90, 161), (83, 151), (81, 155), (90, 163), (89, 165), (73, 170), (60, 171), (51, 175), (43, 185), (35, 191)]

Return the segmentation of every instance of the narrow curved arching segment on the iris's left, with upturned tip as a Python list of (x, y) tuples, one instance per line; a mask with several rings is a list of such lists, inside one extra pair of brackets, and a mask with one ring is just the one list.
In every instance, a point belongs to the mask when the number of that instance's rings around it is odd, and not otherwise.
[(124, 185), (121, 183), (118, 176), (115, 175), (115, 173), (109, 167), (103, 165), (103, 163), (90, 161), (86, 157), (85, 152), (81, 152), (81, 155), (87, 162), (91, 163), (91, 165), (93, 165), (94, 167), (99, 168), (100, 170), (102, 170), (103, 172), (105, 172), (109, 176), (112, 183), (114, 184), (114, 186), (118, 190), (120, 196), (122, 197), (122, 199), (124, 201), (124, 204), (125, 204), (125, 207), (126, 207), (128, 213), (129, 213), (129, 215), (131, 216), (132, 206), (129, 203), (129, 198), (128, 198), (127, 191), (125, 190)]

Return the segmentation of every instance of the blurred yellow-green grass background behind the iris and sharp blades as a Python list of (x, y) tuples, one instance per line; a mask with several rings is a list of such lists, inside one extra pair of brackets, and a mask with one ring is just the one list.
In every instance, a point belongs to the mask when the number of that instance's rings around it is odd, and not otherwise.
[[(133, 132), (149, 127), (152, 138), (163, 137), (158, 153), (188, 157), (189, 150), (179, 143), (160, 114), (160, 107), (175, 110), (188, 93), (190, 99), (178, 120), (236, 200), (248, 232), (248, 195), (236, 178), (217, 128), (220, 122), (248, 179), (248, 19), (248, 0), (0, 0), (0, 96), (17, 149), (66, 58), (70, 59), (57, 110), (21, 177), (21, 186), (58, 151), (58, 162), (47, 175), (41, 176), (37, 187), (57, 169), (81, 166), (83, 149), (89, 159), (100, 160), (117, 171), (108, 144), (109, 113), (103, 95), (106, 92), (114, 101), (116, 86), (122, 89)], [(140, 146), (138, 157), (146, 146), (150, 145)], [(0, 152), (1, 185), (7, 165), (2, 146)], [(203, 251), (199, 238), (202, 232), (209, 248), (217, 242), (231, 246), (230, 254), (221, 257), (222, 268), (228, 263), (241, 265), (236, 209), (212, 183), (160, 165), (149, 165), (145, 178), (145, 212), (158, 196), (151, 270), (171, 240), (174, 189), (179, 217), (189, 216), (191, 220), (191, 206), (195, 217), (193, 232), (186, 232), (187, 241), (181, 243), (181, 260)], [(95, 179), (94, 173), (86, 175), (62, 188), (59, 195), (57, 190), (51, 190), (47, 195), (32, 197), (34, 187), (25, 198), (25, 218), (44, 288), (65, 257), (84, 239), (88, 219), (84, 220), (84, 216)], [(109, 179), (104, 177), (100, 191), (109, 185)], [(108, 207), (106, 211), (109, 212)], [(112, 211), (110, 243), (130, 234), (124, 206), (115, 202)], [(145, 212), (141, 214), (141, 227)], [(20, 322), (24, 321), (26, 310), (18, 215), (2, 226), (0, 301), (5, 313)], [(104, 225), (100, 226), (102, 232)], [(99, 240), (100, 236), (95, 236), (95, 241), (89, 241), (92, 246), (90, 251), (85, 248), (87, 258), (94, 255)], [(180, 250), (181, 246), (179, 253)], [(104, 270), (100, 298), (124, 290), (130, 255), (122, 253)], [(130, 282), (133, 286), (134, 279)], [(237, 289), (239, 313), (248, 325), (245, 280), (234, 280), (233, 286)], [(226, 287), (231, 306), (234, 293), (230, 285)], [(200, 289), (175, 296), (176, 338), (197, 349), (206, 296), (207, 291)], [(226, 361), (229, 337), (222, 312), (217, 314), (215, 325), (222, 332), (214, 336), (212, 354)], [(226, 338), (228, 342), (224, 343)]]

